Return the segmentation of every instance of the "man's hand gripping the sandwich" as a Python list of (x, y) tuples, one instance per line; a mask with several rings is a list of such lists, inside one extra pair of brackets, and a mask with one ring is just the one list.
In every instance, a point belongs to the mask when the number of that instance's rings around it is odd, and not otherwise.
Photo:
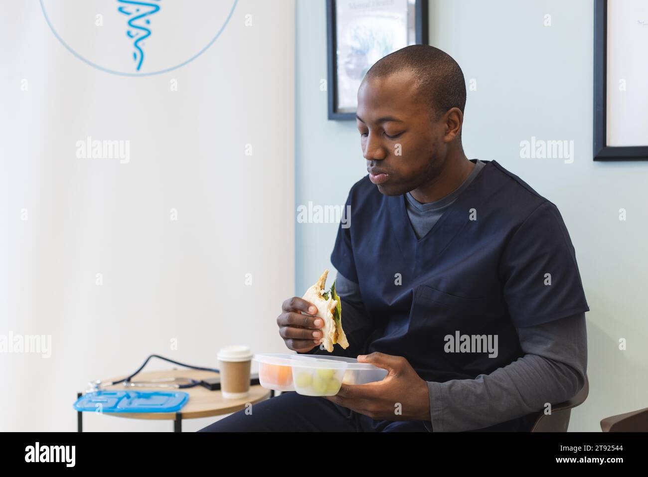
[(307, 353), (319, 345), (324, 320), (316, 316), (308, 316), (318, 312), (315, 305), (294, 296), (282, 303), (281, 311), (282, 313), (277, 316), (277, 325), (279, 325), (279, 335), (288, 349), (294, 349), (297, 353)]

